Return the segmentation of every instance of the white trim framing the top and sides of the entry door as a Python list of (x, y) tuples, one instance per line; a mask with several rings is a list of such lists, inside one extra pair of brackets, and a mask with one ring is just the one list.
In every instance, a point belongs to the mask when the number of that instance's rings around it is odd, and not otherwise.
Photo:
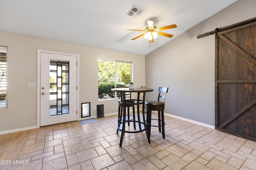
[(37, 50), (37, 120), (36, 120), (36, 127), (40, 127), (40, 64), (41, 64), (41, 53), (52, 53), (52, 54), (59, 54), (59, 55), (70, 55), (70, 56), (75, 56), (76, 57), (76, 120), (79, 119), (79, 109), (80, 109), (80, 104), (79, 104), (79, 57), (80, 55), (78, 54), (70, 54), (70, 53), (60, 53), (56, 51), (46, 51), (46, 50)]

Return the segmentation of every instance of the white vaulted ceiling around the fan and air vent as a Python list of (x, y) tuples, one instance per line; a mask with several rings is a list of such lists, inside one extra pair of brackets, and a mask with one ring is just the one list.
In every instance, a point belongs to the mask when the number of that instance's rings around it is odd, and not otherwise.
[[(146, 55), (236, 0), (0, 0), (0, 30)], [(144, 10), (137, 18), (127, 12)], [(154, 43), (143, 32), (147, 20), (163, 27)], [(211, 31), (211, 30), (209, 30)]]

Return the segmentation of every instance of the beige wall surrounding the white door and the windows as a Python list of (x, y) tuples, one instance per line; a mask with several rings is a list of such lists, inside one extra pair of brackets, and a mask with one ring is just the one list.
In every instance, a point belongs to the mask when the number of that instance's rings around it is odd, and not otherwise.
[(105, 114), (118, 108), (117, 100), (98, 101), (99, 57), (132, 62), (135, 86), (145, 84), (144, 55), (1, 31), (0, 37), (0, 45), (8, 46), (8, 109), (0, 109), (0, 132), (36, 126), (37, 88), (27, 84), (37, 82), (37, 49), (80, 55), (79, 103), (91, 102), (91, 116), (97, 115), (93, 107), (98, 104), (104, 104)]

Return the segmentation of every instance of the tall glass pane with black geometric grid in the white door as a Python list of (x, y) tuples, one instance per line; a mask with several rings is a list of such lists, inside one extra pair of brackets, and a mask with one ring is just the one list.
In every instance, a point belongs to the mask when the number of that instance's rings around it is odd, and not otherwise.
[(50, 61), (50, 116), (69, 113), (69, 63)]

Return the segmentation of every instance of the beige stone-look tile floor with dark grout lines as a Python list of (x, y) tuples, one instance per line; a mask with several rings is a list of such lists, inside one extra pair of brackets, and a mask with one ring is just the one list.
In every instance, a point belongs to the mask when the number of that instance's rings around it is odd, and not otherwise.
[(0, 135), (0, 170), (256, 169), (256, 142), (169, 116), (166, 139), (152, 128), (150, 144), (145, 132), (129, 133), (119, 147), (116, 117)]

